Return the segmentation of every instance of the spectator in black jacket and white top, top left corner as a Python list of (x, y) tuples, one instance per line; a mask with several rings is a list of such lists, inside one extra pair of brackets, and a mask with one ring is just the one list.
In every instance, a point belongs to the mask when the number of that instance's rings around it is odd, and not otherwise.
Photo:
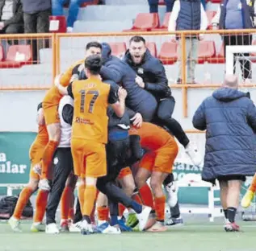
[(0, 0), (0, 34), (23, 31), (23, 7), (20, 0)]

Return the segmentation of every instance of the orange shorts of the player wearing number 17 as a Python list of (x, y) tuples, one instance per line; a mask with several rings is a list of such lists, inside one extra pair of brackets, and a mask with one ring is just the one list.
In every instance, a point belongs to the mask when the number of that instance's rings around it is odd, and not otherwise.
[(107, 175), (105, 144), (72, 138), (71, 152), (75, 175), (82, 178), (98, 178)]

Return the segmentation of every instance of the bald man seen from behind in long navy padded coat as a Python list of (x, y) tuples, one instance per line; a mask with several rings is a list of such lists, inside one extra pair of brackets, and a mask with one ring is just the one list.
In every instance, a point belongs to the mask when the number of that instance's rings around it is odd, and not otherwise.
[(239, 231), (235, 216), (241, 183), (256, 171), (256, 109), (248, 94), (237, 88), (237, 76), (225, 76), (193, 117), (194, 127), (206, 130), (202, 179), (220, 183), (227, 232)]

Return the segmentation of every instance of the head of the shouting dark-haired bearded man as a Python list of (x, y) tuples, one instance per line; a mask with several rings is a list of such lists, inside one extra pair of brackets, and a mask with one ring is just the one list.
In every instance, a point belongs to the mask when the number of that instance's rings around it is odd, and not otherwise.
[(130, 39), (129, 52), (134, 64), (141, 64), (146, 51), (145, 39), (140, 35), (135, 35)]

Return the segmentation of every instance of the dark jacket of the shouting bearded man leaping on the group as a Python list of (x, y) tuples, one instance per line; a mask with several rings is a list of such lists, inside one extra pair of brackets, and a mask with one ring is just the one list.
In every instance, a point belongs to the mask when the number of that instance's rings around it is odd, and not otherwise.
[(145, 90), (152, 93), (154, 97), (161, 99), (171, 96), (166, 69), (160, 60), (150, 54), (148, 49), (141, 64), (133, 64), (129, 51), (126, 51), (124, 61), (130, 65), (136, 75), (141, 76), (145, 83)]

